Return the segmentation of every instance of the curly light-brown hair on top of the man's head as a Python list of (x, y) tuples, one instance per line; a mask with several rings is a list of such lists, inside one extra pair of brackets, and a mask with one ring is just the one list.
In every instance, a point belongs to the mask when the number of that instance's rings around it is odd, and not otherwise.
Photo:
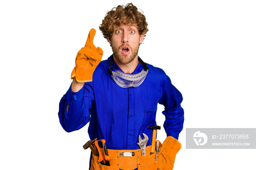
[(125, 7), (124, 5), (118, 5), (112, 8), (111, 11), (108, 11), (102, 20), (102, 24), (99, 26), (99, 30), (101, 30), (104, 38), (111, 38), (115, 28), (122, 24), (137, 26), (140, 35), (146, 34), (148, 31), (148, 23), (143, 15), (143, 11), (139, 12), (138, 8), (132, 3), (128, 3)]

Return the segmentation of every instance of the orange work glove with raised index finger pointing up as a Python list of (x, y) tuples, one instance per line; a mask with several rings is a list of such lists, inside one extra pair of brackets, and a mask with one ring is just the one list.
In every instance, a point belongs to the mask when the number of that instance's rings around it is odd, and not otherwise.
[(93, 38), (96, 31), (91, 28), (84, 47), (76, 55), (76, 66), (71, 73), (71, 79), (76, 76), (78, 82), (93, 81), (93, 72), (103, 55), (100, 47), (95, 47)]

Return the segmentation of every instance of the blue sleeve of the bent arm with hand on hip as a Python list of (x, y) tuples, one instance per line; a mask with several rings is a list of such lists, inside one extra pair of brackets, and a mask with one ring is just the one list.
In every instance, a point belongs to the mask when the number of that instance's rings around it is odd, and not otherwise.
[(172, 85), (170, 78), (167, 76), (159, 104), (165, 106), (165, 110), (162, 113), (165, 115), (163, 127), (166, 134), (167, 136), (173, 136), (177, 140), (184, 123), (184, 110), (181, 107), (182, 100), (181, 93)]

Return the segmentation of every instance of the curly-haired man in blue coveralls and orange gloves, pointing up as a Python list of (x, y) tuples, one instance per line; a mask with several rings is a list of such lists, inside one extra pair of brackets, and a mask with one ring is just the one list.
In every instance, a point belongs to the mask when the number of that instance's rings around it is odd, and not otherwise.
[[(107, 13), (99, 27), (113, 54), (99, 63), (103, 51), (93, 45), (92, 29), (85, 47), (76, 56), (73, 82), (61, 98), (59, 119), (67, 132), (79, 130), (90, 120), (90, 139), (106, 140), (110, 166), (101, 165), (97, 162), (99, 155), (92, 155), (91, 169), (173, 168), (181, 147), (177, 139), (184, 122), (182, 96), (162, 69), (138, 57), (147, 25), (145, 16), (132, 3), (118, 5)], [(158, 103), (165, 106), (163, 127), (168, 137), (156, 163), (156, 153), (150, 155), (150, 147), (146, 147), (144, 156), (137, 143), (138, 136), (146, 134), (146, 146), (151, 145), (153, 131), (147, 127), (156, 124)], [(121, 153), (133, 155), (124, 157)]]

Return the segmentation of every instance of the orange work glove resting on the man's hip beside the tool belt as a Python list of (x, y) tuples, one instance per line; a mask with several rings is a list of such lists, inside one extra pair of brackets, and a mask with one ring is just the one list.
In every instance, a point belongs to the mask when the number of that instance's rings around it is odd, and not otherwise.
[(176, 154), (180, 149), (181, 143), (172, 136), (167, 136), (158, 153), (157, 169), (172, 170)]

